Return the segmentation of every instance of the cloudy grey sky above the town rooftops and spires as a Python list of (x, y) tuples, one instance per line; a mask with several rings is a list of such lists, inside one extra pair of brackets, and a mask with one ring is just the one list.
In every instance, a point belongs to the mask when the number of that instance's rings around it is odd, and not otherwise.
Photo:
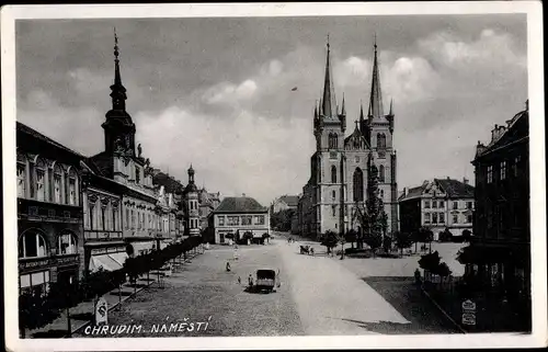
[(377, 35), (400, 190), (434, 177), (473, 182), (477, 141), (527, 99), (524, 14), (20, 20), (18, 120), (102, 151), (114, 26), (144, 156), (183, 183), (192, 162), (198, 185), (263, 204), (300, 193), (310, 175), (328, 33), (347, 134), (367, 107)]

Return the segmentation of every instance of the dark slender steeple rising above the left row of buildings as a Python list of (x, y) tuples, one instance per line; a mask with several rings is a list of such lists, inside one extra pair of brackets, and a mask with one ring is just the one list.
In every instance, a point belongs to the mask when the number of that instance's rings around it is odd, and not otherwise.
[(105, 152), (112, 155), (123, 149), (128, 156), (135, 154), (135, 124), (126, 112), (126, 88), (122, 84), (119, 73), (118, 37), (114, 32), (114, 83), (111, 86), (112, 109), (106, 113), (106, 121), (101, 125), (104, 129)]

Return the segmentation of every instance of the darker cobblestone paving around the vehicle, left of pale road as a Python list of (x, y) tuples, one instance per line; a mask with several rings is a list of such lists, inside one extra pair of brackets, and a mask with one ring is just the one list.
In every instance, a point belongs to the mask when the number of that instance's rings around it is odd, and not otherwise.
[[(112, 327), (125, 325), (133, 333), (119, 328), (95, 337), (181, 337), (181, 336), (299, 336), (304, 334), (290, 283), (271, 294), (244, 292), (247, 277), (261, 268), (285, 272), (275, 245), (242, 246), (239, 259), (233, 250), (213, 247), (179, 273), (167, 277), (164, 288), (149, 288), (109, 315)], [(230, 262), (231, 272), (226, 272)], [(238, 276), (242, 284), (238, 284)], [(284, 281), (283, 274), (282, 280)], [(210, 319), (208, 320), (208, 318)], [(187, 318), (187, 320), (185, 320)], [(190, 322), (194, 322), (193, 331)], [(197, 322), (201, 325), (197, 330)], [(183, 323), (184, 325), (183, 327)], [(165, 327), (163, 327), (165, 325)], [(128, 328), (129, 329), (129, 328)], [(171, 330), (171, 331), (170, 331)], [(92, 332), (91, 328), (88, 332)], [(114, 332), (112, 334), (111, 332)], [(82, 337), (90, 337), (82, 331)]]

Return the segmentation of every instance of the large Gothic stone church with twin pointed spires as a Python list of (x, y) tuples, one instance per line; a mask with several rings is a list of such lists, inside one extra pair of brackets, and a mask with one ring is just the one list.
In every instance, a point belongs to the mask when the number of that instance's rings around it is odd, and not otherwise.
[(358, 230), (358, 211), (365, 209), (368, 170), (378, 170), (378, 195), (388, 217), (387, 234), (398, 228), (397, 158), (393, 149), (395, 115), (392, 102), (384, 113), (377, 45), (375, 43), (369, 107), (363, 106), (353, 132), (346, 136), (344, 96), (339, 109), (331, 72), (328, 43), (323, 96), (315, 106), (316, 152), (310, 158), (310, 179), (298, 204), (301, 235), (320, 237), (328, 230), (345, 234)]

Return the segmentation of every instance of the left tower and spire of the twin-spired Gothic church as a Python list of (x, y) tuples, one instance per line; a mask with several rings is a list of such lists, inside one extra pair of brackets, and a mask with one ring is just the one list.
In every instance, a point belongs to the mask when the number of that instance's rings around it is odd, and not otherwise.
[(336, 104), (332, 76), (331, 49), (327, 44), (323, 94), (315, 106), (316, 154), (312, 156), (312, 179), (315, 186), (316, 234), (332, 230), (344, 231), (344, 133), (346, 110), (344, 98), (341, 110)]

